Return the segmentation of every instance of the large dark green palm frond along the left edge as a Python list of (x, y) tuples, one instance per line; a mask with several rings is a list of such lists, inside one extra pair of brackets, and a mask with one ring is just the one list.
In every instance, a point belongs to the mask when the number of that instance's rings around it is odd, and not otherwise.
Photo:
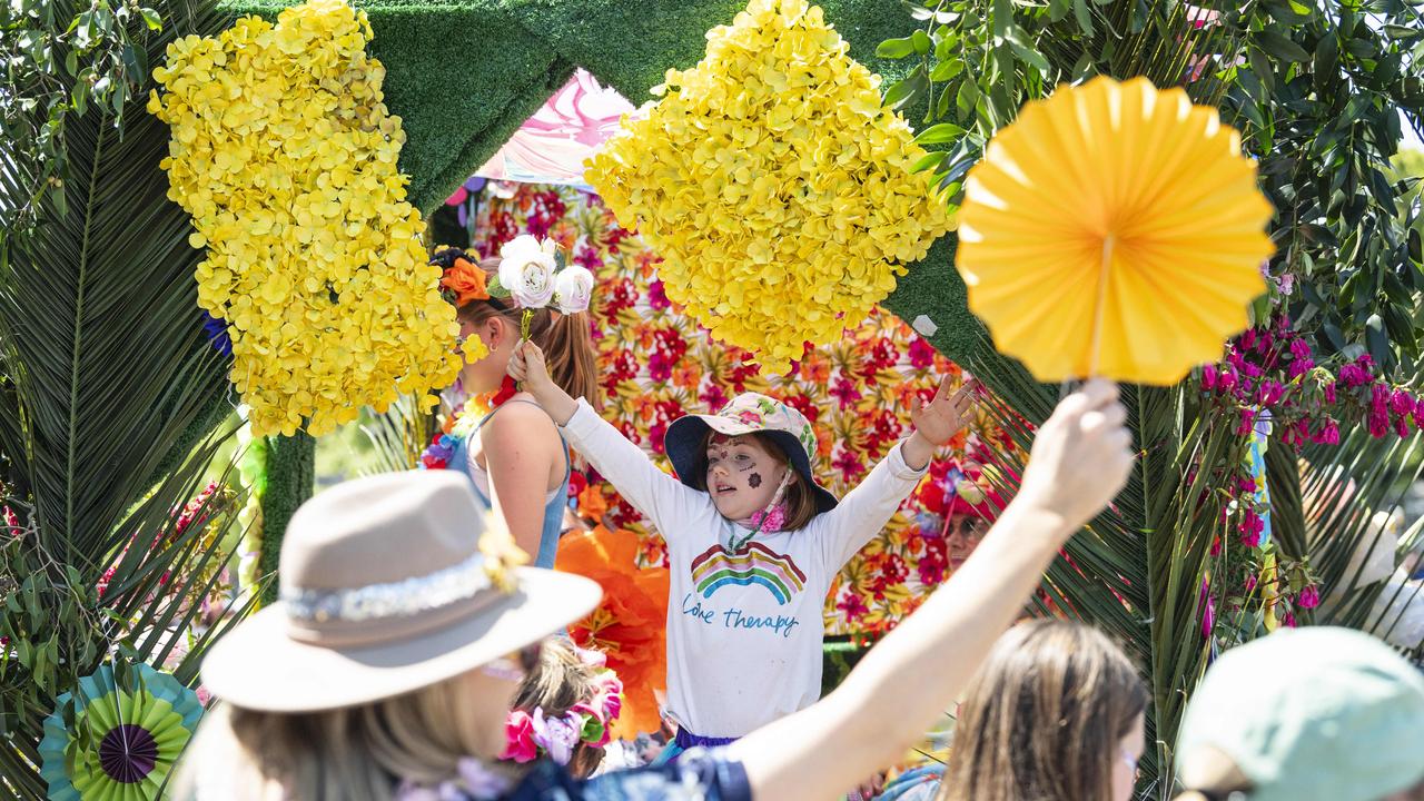
[[(151, 64), (175, 37), (228, 23), (206, 0), (158, 7)], [(115, 648), (171, 656), (199, 614), (184, 599), (234, 549), (211, 536), (221, 519), (182, 532), (174, 522), (231, 433), (209, 436), (228, 365), (202, 335), (192, 278), (202, 254), (167, 197), (168, 128), (142, 107), (148, 83), (122, 108), (122, 130), (108, 105), (67, 120), (67, 180), (46, 192), (33, 231), (0, 241), (0, 465), (26, 524), (4, 543), (16, 603), (0, 626), (30, 651), (0, 660), (0, 774), (21, 798), (44, 797), (36, 743), (54, 697)], [(0, 204), (26, 202), (26, 165), (3, 148), (0, 162), (16, 170), (0, 170)], [(195, 678), (201, 646), (224, 626), (204, 629), (181, 678)]]

